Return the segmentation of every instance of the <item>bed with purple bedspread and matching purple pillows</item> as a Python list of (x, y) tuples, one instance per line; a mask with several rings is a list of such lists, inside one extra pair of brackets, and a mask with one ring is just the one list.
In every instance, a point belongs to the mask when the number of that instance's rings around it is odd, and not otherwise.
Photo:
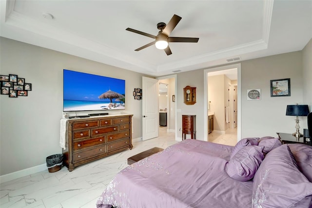
[(312, 146), (187, 139), (121, 170), (98, 208), (310, 208)]

